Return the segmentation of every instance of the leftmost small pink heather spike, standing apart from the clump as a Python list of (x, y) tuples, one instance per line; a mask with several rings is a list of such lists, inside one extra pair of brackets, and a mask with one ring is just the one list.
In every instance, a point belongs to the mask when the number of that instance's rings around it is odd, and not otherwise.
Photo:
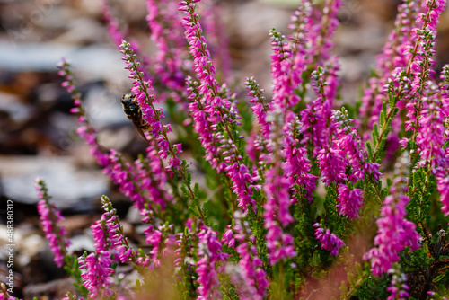
[(66, 257), (66, 249), (70, 245), (67, 238), (66, 228), (61, 225), (57, 225), (58, 222), (64, 220), (61, 212), (57, 210), (54, 204), (49, 202), (50, 196), (48, 195), (47, 186), (45, 181), (36, 179), (36, 190), (38, 192), (38, 213), (40, 215), (40, 224), (42, 230), (45, 233), (45, 238), (48, 240), (50, 250), (55, 255), (55, 262), (57, 267), (62, 267), (63, 260)]

